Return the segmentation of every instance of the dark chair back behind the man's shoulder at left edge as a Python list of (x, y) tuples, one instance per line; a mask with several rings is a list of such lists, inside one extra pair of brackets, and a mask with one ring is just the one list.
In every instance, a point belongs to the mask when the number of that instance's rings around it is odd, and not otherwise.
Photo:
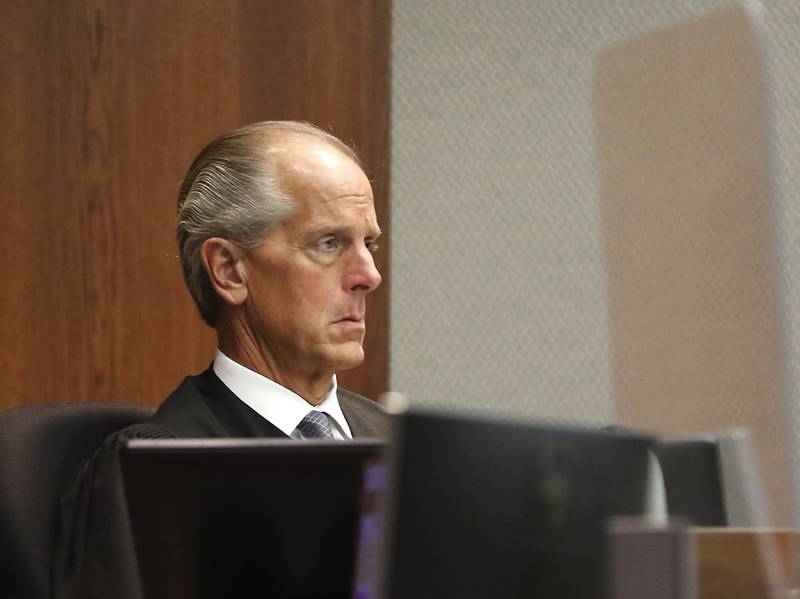
[(148, 407), (111, 403), (28, 405), (0, 412), (1, 595), (51, 597), (61, 493), (108, 435), (152, 413)]

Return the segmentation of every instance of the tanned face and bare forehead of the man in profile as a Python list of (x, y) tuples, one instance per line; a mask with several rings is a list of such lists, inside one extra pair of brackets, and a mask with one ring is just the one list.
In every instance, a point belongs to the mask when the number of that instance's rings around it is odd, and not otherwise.
[(317, 140), (275, 152), (296, 212), (245, 253), (246, 318), (277, 372), (353, 368), (364, 359), (366, 296), (381, 282), (372, 188), (350, 158)]

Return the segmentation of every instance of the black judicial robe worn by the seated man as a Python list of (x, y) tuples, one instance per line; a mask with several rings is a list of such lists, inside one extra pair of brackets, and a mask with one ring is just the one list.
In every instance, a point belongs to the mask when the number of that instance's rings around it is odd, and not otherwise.
[[(337, 395), (354, 438), (388, 437), (389, 418), (374, 402), (344, 389)], [(119, 462), (126, 440), (226, 437), (286, 435), (236, 397), (212, 368), (186, 377), (150, 422), (111, 435), (61, 498), (55, 599), (143, 599)]]

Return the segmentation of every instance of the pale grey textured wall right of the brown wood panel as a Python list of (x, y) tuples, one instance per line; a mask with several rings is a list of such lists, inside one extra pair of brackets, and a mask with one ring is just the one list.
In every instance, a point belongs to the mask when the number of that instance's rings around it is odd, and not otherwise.
[[(393, 389), (460, 412), (613, 419), (594, 60), (725, 4), (395, 0)], [(766, 2), (764, 21), (797, 379), (800, 2)]]

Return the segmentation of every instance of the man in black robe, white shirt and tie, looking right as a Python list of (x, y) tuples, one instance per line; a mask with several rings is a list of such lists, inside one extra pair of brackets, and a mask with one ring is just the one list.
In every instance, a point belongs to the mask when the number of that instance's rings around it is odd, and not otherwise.
[(364, 359), (379, 236), (355, 154), (316, 127), (256, 123), (200, 153), (181, 187), (177, 237), (219, 349), (149, 423), (109, 438), (65, 493), (57, 597), (141, 596), (117, 459), (127, 439), (386, 435), (380, 408), (336, 383)]

